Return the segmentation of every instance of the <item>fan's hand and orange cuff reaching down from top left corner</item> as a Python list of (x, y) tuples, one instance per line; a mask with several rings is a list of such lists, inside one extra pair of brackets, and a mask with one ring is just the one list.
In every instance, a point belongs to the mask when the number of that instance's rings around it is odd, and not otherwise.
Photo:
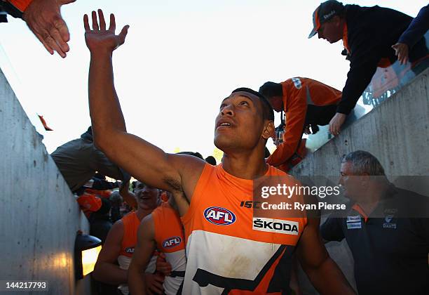
[(60, 7), (76, 0), (0, 0), (0, 8), (15, 18), (22, 18), (46, 50), (66, 57), (69, 51), (69, 29)]

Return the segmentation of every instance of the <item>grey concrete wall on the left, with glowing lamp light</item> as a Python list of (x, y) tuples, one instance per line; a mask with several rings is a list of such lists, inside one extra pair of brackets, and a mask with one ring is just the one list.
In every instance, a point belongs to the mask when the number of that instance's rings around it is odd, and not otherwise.
[(1, 70), (0, 126), (0, 280), (48, 280), (43, 294), (88, 294), (73, 260), (76, 231), (88, 233), (88, 222)]

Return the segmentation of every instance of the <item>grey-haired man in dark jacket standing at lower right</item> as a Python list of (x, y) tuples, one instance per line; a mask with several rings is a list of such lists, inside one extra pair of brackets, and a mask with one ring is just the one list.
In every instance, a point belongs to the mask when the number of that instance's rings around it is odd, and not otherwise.
[(346, 239), (357, 293), (429, 294), (428, 197), (396, 188), (363, 150), (343, 157), (339, 183), (348, 209), (329, 216), (320, 234), (325, 241)]

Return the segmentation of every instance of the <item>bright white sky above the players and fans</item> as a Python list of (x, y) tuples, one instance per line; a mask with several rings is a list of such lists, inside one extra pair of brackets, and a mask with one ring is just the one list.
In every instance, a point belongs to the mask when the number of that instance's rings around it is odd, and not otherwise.
[[(0, 67), (48, 152), (90, 125), (89, 53), (83, 13), (115, 13), (130, 25), (114, 53), (115, 83), (128, 131), (166, 152), (214, 150), (220, 101), (239, 86), (310, 77), (341, 90), (348, 62), (341, 41), (307, 39), (320, 1), (118, 1), (77, 0), (63, 6), (71, 51), (49, 55), (21, 20), (0, 25)], [(427, 1), (344, 1), (379, 4), (415, 16)], [(43, 114), (54, 131), (36, 120)], [(277, 124), (277, 123), (276, 123)]]

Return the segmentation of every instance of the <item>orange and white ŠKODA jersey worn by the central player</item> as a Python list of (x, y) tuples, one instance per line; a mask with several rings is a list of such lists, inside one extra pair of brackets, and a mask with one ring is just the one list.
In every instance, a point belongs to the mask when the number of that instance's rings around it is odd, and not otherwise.
[[(268, 166), (266, 176), (287, 174)], [(240, 205), (252, 200), (253, 181), (232, 176), (222, 164), (205, 165), (182, 217), (188, 258), (183, 294), (281, 294), (289, 288), (306, 218), (255, 218)], [(264, 223), (268, 228), (261, 228)]]

